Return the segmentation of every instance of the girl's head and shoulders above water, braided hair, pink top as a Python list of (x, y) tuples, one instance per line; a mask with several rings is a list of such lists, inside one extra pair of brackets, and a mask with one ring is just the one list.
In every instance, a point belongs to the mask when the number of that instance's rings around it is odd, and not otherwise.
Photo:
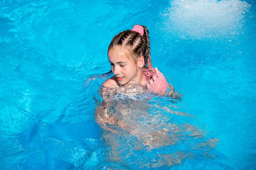
[[(135, 25), (116, 35), (108, 48), (112, 76), (103, 87), (115, 89), (130, 84), (140, 84), (149, 92), (179, 98), (157, 68), (152, 68), (148, 29)], [(169, 89), (169, 91), (168, 91)], [(168, 91), (168, 93), (167, 93)]]

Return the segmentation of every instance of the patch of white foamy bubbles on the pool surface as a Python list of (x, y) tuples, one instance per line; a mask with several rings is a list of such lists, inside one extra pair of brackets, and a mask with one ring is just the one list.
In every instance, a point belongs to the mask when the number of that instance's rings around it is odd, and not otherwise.
[(239, 34), (249, 8), (240, 0), (173, 0), (164, 15), (180, 37), (219, 38)]

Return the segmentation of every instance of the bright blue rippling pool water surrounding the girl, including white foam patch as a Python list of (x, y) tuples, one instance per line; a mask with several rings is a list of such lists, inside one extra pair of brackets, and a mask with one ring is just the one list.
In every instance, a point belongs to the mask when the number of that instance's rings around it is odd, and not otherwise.
[[(99, 127), (106, 77), (88, 81), (137, 23), (183, 94), (139, 101), (141, 133), (171, 131), (155, 149)], [(254, 0), (1, 0), (0, 80), (0, 169), (256, 169)]]

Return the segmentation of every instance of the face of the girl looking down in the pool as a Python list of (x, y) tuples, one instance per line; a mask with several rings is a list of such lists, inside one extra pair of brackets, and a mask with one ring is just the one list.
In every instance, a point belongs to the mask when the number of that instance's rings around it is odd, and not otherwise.
[(108, 61), (111, 70), (115, 74), (119, 85), (140, 83), (140, 72), (138, 64), (132, 63), (118, 47), (112, 48), (108, 53)]

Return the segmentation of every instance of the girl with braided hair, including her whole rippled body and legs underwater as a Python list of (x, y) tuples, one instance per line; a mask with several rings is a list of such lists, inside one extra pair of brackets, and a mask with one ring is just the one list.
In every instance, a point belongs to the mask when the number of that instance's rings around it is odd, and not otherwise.
[[(99, 107), (95, 112), (95, 120), (102, 127), (103, 140), (111, 148), (107, 159), (111, 162), (135, 160), (140, 163), (146, 160), (149, 162), (147, 166), (152, 168), (182, 163), (185, 155), (190, 155), (190, 152), (172, 153), (167, 151), (172, 149), (166, 149), (165, 146), (173, 147), (183, 142), (187, 146), (184, 139), (203, 138), (204, 135), (200, 129), (189, 123), (179, 125), (173, 122), (172, 116), (165, 113), (192, 117), (189, 114), (172, 111), (168, 107), (164, 108), (166, 111), (158, 111), (158, 108), (162, 109), (161, 102), (154, 103), (151, 100), (155, 95), (180, 100), (181, 95), (174, 92), (173, 86), (167, 83), (157, 68), (152, 68), (148, 29), (135, 25), (132, 30), (116, 35), (108, 48), (108, 60), (114, 76), (100, 88), (103, 100), (98, 103)], [(148, 102), (150, 100), (153, 102)], [(205, 150), (205, 146), (210, 144), (200, 143), (194, 148), (198, 150), (200, 145)], [(145, 148), (159, 149), (152, 152), (155, 157), (151, 159), (151, 153), (141, 157), (140, 154), (144, 154)], [(164, 152), (161, 152), (164, 154), (159, 154), (161, 148), (164, 148)], [(139, 150), (142, 153), (138, 154)]]

